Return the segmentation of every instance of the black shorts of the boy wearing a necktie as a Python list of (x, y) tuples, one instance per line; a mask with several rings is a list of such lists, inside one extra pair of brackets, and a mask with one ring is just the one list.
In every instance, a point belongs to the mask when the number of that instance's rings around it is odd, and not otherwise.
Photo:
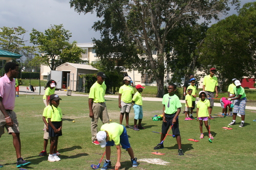
[[(162, 124), (162, 134), (166, 134), (170, 128), (170, 126), (172, 126), (172, 122), (173, 122), (173, 118), (176, 115), (176, 113), (174, 114), (165, 114), (165, 120), (166, 122), (163, 122)], [(173, 135), (180, 135), (180, 129), (179, 129), (179, 118), (177, 118), (176, 123), (174, 124), (173, 128)]]

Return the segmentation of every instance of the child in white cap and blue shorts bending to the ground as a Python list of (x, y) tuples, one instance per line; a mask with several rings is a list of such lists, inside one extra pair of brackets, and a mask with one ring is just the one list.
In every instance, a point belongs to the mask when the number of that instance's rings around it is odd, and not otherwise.
[(119, 169), (121, 164), (121, 146), (123, 149), (126, 149), (131, 157), (133, 167), (137, 167), (137, 158), (134, 157), (133, 149), (129, 143), (128, 135), (126, 129), (123, 125), (117, 123), (104, 124), (101, 126), (100, 131), (96, 135), (98, 142), (100, 143), (100, 147), (105, 147), (106, 160), (104, 161), (104, 165), (101, 169), (111, 168), (111, 146), (116, 145), (117, 149), (117, 162), (115, 165), (115, 169)]

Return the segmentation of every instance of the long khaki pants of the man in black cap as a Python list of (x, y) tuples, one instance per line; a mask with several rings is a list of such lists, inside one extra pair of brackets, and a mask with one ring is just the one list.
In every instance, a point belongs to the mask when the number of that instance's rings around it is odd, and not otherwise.
[(93, 103), (93, 115), (94, 118), (91, 120), (91, 133), (92, 141), (97, 140), (96, 135), (98, 133), (98, 119), (100, 118), (103, 124), (110, 123), (108, 110), (106, 110), (105, 103)]

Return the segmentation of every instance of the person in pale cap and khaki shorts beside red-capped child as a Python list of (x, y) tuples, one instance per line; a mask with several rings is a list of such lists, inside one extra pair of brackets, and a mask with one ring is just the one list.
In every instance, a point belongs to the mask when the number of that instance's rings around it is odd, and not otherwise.
[(123, 85), (119, 88), (118, 107), (121, 109), (120, 125), (122, 125), (123, 117), (125, 115), (125, 127), (133, 129), (133, 127), (129, 125), (129, 113), (132, 108), (132, 99), (134, 95), (134, 89), (130, 86), (130, 82), (131, 79), (129, 77), (126, 76), (123, 78)]

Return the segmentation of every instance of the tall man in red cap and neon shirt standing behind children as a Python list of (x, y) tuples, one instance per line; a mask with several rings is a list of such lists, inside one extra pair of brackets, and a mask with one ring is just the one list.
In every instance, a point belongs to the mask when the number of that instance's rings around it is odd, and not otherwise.
[[(214, 91), (216, 92), (215, 98), (218, 98), (218, 79), (214, 75), (216, 74), (216, 68), (210, 68), (210, 74), (204, 77), (203, 81), (203, 91), (206, 93), (207, 98), (214, 98)], [(214, 107), (214, 99), (209, 99), (210, 101), (210, 115), (212, 107)], [(211, 116), (211, 118), (213, 118)]]

